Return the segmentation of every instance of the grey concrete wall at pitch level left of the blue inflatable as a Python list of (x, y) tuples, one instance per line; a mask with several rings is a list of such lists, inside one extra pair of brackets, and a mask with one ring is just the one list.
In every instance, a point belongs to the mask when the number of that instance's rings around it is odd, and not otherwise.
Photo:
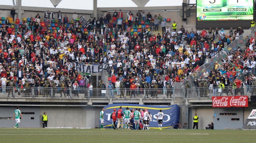
[[(99, 113), (101, 107), (20, 107), (21, 112), (34, 112), (35, 114), (22, 114), (23, 119), (19, 127), (43, 127), (42, 115), (48, 116), (48, 127), (95, 128), (99, 127)], [(0, 107), (1, 117), (13, 117), (15, 107)], [(34, 119), (31, 119), (34, 117)], [(12, 128), (15, 120), (0, 119), (0, 127)]]

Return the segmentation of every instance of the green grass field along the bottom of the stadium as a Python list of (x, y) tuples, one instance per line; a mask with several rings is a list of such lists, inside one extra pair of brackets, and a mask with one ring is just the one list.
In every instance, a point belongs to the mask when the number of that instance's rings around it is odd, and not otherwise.
[(1, 143), (252, 143), (256, 130), (0, 129)]

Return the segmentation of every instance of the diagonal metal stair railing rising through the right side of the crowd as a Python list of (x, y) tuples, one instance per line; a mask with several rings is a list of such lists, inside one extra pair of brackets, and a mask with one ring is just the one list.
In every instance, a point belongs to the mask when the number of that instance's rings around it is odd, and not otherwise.
[[(241, 47), (242, 50), (245, 49), (246, 39), (247, 36), (254, 36), (254, 32), (256, 31), (256, 27), (251, 27), (247, 31), (245, 31), (243, 34), (241, 34), (236, 40), (234, 40), (232, 43), (230, 43), (227, 47), (223, 49), (223, 51), (216, 54), (213, 58), (211, 58), (208, 63), (204, 63), (200, 66), (200, 68), (196, 69), (192, 74), (187, 76), (185, 79), (181, 80), (179, 83), (174, 83), (174, 89), (184, 89), (185, 83), (188, 82), (189, 87), (194, 87), (193, 80), (194, 78), (199, 78), (199, 76), (202, 76), (202, 73), (204, 70), (207, 70), (209, 73), (210, 69), (214, 67), (213, 63), (220, 62), (223, 58), (228, 57), (227, 52), (231, 52), (233, 50), (236, 50), (238, 46)], [(180, 97), (183, 93), (183, 90), (177, 90), (175, 91), (175, 96)]]

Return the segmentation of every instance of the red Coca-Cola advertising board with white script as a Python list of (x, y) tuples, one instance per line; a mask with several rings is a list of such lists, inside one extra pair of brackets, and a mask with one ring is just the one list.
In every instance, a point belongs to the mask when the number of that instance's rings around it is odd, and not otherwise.
[(248, 107), (248, 96), (215, 96), (213, 107)]

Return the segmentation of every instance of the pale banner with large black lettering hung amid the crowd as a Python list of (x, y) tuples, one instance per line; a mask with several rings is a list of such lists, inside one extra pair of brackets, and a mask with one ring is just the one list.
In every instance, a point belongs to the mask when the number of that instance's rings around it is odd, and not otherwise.
[(102, 70), (107, 71), (108, 70), (109, 65), (105, 64), (105, 65), (87, 65), (87, 64), (82, 64), (79, 63), (76, 66), (76, 69), (78, 72), (85, 72), (85, 73), (90, 73), (90, 74), (96, 74), (101, 72)]

